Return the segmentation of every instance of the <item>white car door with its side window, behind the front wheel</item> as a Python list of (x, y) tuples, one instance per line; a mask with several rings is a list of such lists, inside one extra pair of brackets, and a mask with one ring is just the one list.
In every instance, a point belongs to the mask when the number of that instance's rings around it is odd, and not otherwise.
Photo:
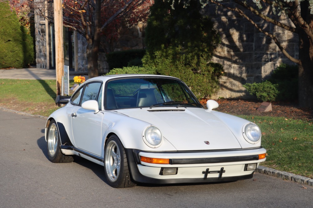
[[(73, 102), (79, 104), (73, 109), (71, 121), (75, 146), (92, 154), (101, 155), (102, 152), (102, 83), (85, 84), (78, 96), (73, 96)], [(77, 98), (76, 98), (77, 97)], [(87, 110), (81, 104), (88, 100), (96, 100), (99, 112)]]

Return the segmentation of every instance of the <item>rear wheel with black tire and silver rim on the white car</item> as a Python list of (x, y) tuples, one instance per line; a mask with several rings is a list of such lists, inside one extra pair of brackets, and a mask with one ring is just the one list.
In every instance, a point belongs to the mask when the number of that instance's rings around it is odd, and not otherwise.
[(63, 163), (73, 162), (74, 158), (70, 155), (64, 155), (60, 149), (61, 140), (56, 122), (52, 119), (50, 121), (47, 131), (47, 149), (48, 157), (51, 162)]

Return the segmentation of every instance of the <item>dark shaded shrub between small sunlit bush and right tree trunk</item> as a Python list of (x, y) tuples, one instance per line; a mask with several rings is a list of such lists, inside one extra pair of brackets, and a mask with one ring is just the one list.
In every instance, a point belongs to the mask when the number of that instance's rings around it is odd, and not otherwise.
[(298, 66), (281, 64), (269, 78), (269, 82), (277, 84), (277, 101), (294, 101), (298, 98)]

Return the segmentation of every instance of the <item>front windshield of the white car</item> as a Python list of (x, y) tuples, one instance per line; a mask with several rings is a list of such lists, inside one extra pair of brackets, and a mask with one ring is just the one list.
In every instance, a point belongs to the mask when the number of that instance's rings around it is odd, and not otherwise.
[(203, 107), (189, 88), (172, 78), (143, 77), (115, 79), (107, 83), (105, 109), (136, 107)]

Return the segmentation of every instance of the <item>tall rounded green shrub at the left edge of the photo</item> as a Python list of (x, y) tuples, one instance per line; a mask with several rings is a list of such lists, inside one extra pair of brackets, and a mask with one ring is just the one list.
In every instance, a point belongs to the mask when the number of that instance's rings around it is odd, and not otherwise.
[(34, 61), (33, 38), (8, 2), (0, 2), (0, 68), (27, 67)]

